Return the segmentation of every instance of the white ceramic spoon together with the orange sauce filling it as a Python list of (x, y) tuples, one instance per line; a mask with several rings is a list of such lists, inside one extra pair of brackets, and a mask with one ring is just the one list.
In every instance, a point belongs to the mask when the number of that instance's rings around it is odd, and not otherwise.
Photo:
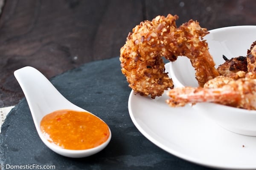
[(14, 75), (24, 92), (38, 135), (52, 151), (62, 156), (82, 158), (98, 153), (108, 145), (111, 140), (108, 125), (64, 98), (37, 69), (26, 66), (16, 70)]

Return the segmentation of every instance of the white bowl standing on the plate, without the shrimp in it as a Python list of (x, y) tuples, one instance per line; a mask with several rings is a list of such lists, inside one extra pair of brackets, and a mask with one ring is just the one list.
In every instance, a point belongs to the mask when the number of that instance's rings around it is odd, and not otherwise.
[[(246, 56), (247, 49), (256, 40), (256, 26), (230, 26), (213, 29), (204, 37), (209, 45), (209, 52), (216, 68), (227, 58)], [(178, 57), (170, 63), (170, 75), (175, 87), (198, 86), (195, 69), (186, 57)], [(256, 111), (228, 107), (214, 103), (198, 103), (192, 108), (215, 121), (221, 127), (234, 133), (256, 136)]]

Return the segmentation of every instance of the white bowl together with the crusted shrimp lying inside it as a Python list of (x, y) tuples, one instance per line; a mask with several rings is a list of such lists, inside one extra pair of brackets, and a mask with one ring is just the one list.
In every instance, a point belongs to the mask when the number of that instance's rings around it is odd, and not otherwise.
[[(255, 30), (256, 26), (209, 30), (205, 39), (219, 66), (220, 76), (198, 87), (189, 61), (178, 58), (180, 60), (170, 63), (170, 76), (175, 87), (166, 92), (169, 95), (166, 102), (171, 107), (190, 104), (192, 109), (227, 130), (256, 136)], [(223, 55), (233, 59), (224, 61)]]

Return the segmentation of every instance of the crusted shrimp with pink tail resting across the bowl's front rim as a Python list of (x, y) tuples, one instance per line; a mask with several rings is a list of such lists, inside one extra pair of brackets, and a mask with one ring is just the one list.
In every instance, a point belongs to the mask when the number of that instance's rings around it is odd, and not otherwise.
[[(222, 83), (221, 83), (222, 81)], [(256, 110), (256, 79), (240, 78), (233, 80), (217, 77), (205, 87), (183, 87), (171, 89), (166, 101), (172, 107), (188, 103), (215, 102), (232, 107)]]

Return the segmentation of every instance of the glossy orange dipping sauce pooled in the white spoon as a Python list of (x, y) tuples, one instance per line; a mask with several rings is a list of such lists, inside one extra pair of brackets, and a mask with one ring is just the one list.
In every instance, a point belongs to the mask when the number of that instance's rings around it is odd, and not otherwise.
[(57, 110), (41, 120), (41, 132), (49, 142), (69, 150), (97, 147), (108, 140), (108, 125), (88, 112)]

